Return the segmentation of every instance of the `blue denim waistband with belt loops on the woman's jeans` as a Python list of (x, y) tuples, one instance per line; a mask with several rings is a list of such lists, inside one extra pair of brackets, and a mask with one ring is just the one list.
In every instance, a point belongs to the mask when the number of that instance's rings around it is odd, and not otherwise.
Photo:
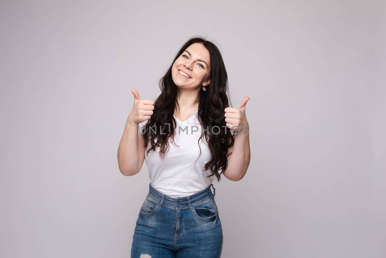
[[(210, 187), (213, 187), (213, 193)], [(149, 196), (158, 203), (158, 207), (160, 208), (164, 206), (176, 210), (185, 208), (192, 209), (192, 207), (195, 205), (205, 202), (214, 195), (216, 195), (216, 190), (213, 184), (210, 184), (210, 186), (202, 191), (199, 191), (198, 193), (180, 198), (173, 198), (171, 196), (164, 195), (163, 193), (160, 193), (154, 189), (151, 183), (149, 184)]]

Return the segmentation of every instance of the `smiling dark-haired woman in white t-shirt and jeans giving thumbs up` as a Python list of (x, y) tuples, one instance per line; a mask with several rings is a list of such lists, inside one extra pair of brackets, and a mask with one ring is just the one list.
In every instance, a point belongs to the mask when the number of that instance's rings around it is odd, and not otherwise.
[(250, 97), (229, 107), (222, 56), (201, 37), (181, 47), (159, 85), (156, 101), (130, 89), (134, 105), (118, 149), (122, 174), (137, 174), (146, 159), (151, 181), (131, 257), (220, 257), (222, 226), (211, 186), (221, 174), (239, 181), (247, 171)]

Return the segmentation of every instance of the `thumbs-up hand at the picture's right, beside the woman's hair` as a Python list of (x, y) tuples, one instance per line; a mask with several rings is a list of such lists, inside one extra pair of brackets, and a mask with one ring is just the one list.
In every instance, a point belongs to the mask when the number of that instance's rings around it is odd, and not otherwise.
[(251, 96), (244, 97), (242, 99), (240, 108), (225, 108), (225, 122), (227, 122), (227, 127), (233, 131), (243, 132), (249, 131), (249, 124), (247, 117), (245, 116), (245, 104), (251, 99)]

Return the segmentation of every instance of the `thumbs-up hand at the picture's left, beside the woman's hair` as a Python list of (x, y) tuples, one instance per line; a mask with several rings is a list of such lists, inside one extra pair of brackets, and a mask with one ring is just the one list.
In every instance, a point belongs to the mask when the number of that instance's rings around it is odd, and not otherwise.
[(126, 124), (139, 125), (143, 121), (150, 119), (154, 110), (154, 101), (151, 99), (139, 99), (139, 93), (134, 88), (130, 89), (130, 91), (134, 95), (134, 104)]

